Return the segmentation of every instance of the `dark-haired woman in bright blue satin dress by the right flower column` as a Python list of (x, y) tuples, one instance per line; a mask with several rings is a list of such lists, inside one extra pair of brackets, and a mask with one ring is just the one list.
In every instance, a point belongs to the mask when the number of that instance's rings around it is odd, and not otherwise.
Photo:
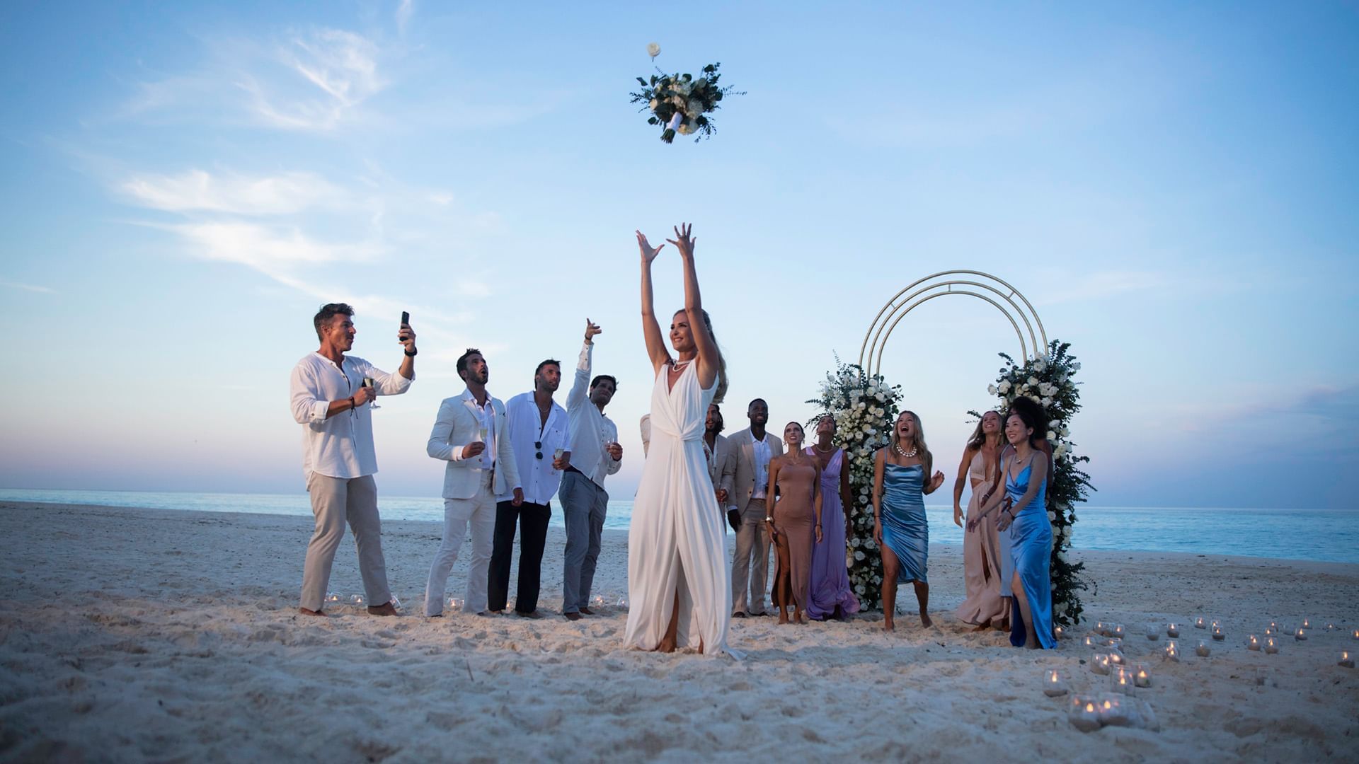
[[(1015, 609), (1010, 643), (1030, 650), (1057, 647), (1052, 633), (1052, 522), (1048, 521), (1048, 455), (1034, 435), (1038, 421), (1026, 409), (1011, 409), (1006, 439), (1014, 449), (1002, 458), (1004, 498), (996, 496), (1000, 542), (1010, 545), (1010, 590)], [(995, 507), (992, 507), (995, 508)]]

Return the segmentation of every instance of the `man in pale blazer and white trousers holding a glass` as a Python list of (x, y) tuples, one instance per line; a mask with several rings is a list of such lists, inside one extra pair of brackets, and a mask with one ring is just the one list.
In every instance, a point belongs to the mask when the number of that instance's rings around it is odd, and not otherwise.
[(489, 378), (481, 351), (467, 348), (458, 358), (458, 377), (467, 383), (461, 396), (439, 405), (425, 453), (448, 462), (443, 470), (443, 542), (429, 566), (425, 585), (425, 616), (443, 614), (443, 590), (458, 549), (472, 525), (472, 566), (467, 568), (465, 609), (487, 612), (487, 580), (496, 530), (496, 495), (514, 491), (514, 506), (523, 503), (523, 487), (510, 443), (506, 405), (487, 392)]

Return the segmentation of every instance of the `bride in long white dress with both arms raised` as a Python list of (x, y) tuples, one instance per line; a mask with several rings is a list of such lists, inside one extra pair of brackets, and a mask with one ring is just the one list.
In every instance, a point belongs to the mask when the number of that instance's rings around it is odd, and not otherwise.
[(728, 653), (731, 571), (727, 567), (722, 510), (703, 453), (708, 404), (727, 390), (726, 364), (699, 298), (692, 226), (667, 239), (684, 265), (685, 307), (670, 324), (666, 349), (651, 298), (651, 262), (665, 249), (641, 247), (641, 332), (656, 372), (651, 392), (651, 450), (632, 502), (628, 530), (628, 629), (624, 644), (671, 653), (697, 647), (707, 655)]

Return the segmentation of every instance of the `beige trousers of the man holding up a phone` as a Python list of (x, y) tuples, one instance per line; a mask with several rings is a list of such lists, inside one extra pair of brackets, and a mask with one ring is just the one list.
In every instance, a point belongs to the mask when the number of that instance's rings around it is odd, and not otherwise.
[(371, 474), (363, 477), (307, 477), (311, 514), (317, 530), (307, 542), (307, 561), (302, 568), (302, 606), (319, 610), (330, 585), (330, 566), (344, 538), (344, 523), (353, 529), (359, 546), (359, 574), (368, 605), (391, 601), (387, 589), (387, 566), (382, 561), (382, 519), (378, 517), (378, 484)]

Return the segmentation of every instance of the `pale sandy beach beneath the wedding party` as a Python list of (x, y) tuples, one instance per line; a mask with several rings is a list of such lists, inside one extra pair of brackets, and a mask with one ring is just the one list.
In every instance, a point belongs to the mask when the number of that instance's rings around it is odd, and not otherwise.
[[(747, 659), (622, 650), (625, 614), (560, 606), (563, 533), (544, 561), (548, 619), (296, 614), (310, 518), (0, 502), (0, 759), (202, 761), (955, 761), (1355, 760), (1359, 670), (1349, 632), (1242, 647), (1268, 619), (1359, 628), (1359, 566), (1086, 552), (1087, 617), (1128, 624), (1161, 730), (1079, 733), (1038, 689), (1059, 667), (1104, 687), (1067, 640), (1008, 647), (954, 621), (961, 548), (931, 548), (936, 627), (734, 621)], [(395, 593), (417, 612), (439, 544), (428, 522), (385, 523)], [(728, 537), (730, 541), (730, 537)], [(467, 546), (463, 546), (465, 553)], [(465, 560), (451, 589), (461, 595)], [(597, 591), (624, 591), (626, 534), (606, 532)], [(511, 593), (514, 591), (511, 579)], [(351, 542), (330, 589), (360, 591)], [(913, 606), (909, 590), (902, 591)], [(1181, 663), (1142, 624), (1203, 613), (1229, 639)], [(1185, 639), (1188, 638), (1188, 639)], [(1265, 687), (1256, 667), (1269, 669)]]

